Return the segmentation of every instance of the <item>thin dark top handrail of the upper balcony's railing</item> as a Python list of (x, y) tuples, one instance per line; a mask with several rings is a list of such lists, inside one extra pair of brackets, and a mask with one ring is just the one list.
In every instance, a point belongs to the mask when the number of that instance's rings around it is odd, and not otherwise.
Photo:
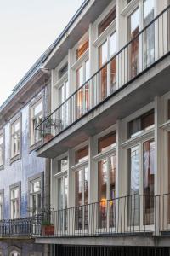
[[(65, 100), (65, 102), (62, 102), (62, 103), (59, 105), (59, 107), (55, 108), (54, 111), (48, 115), (48, 117), (46, 117), (45, 119), (43, 119), (42, 122), (41, 122), (39, 125), (37, 125), (36, 130), (40, 130), (40, 131), (41, 131), (41, 129), (39, 129), (39, 127), (40, 127), (46, 120), (48, 120), (51, 115), (53, 115), (57, 110), (59, 110), (59, 108), (61, 108), (63, 105), (65, 105), (65, 103), (68, 102), (68, 101), (71, 99), (71, 97), (75, 96), (79, 90), (82, 90), (82, 88), (83, 88), (86, 84), (88, 84), (88, 82), (89, 82), (91, 79), (94, 79), (94, 77), (95, 77), (105, 66), (107, 66), (113, 59), (115, 59), (117, 55), (120, 55), (124, 49), (126, 49), (130, 44), (133, 43), (133, 41), (135, 41), (137, 38), (139, 38), (139, 35), (142, 34), (145, 30), (147, 30), (147, 28), (150, 27), (156, 20), (158, 20), (159, 17), (161, 17), (161, 15), (163, 15), (163, 14), (167, 11), (167, 9), (170, 9), (170, 4), (167, 6), (166, 9), (163, 9), (159, 15), (156, 15), (156, 17), (155, 17), (153, 20), (151, 20), (150, 23), (149, 23), (147, 26), (144, 26), (144, 28), (143, 28), (141, 31), (139, 31), (139, 33), (138, 33), (133, 39), (131, 39), (130, 41), (128, 41), (127, 44), (125, 44), (125, 45), (122, 47), (122, 49), (120, 49), (119, 51), (117, 51), (116, 54), (113, 55), (109, 61), (106, 61), (105, 64), (104, 64), (102, 67), (100, 67), (87, 81), (85, 81), (80, 87), (78, 87), (77, 90), (75, 90), (75, 91), (71, 94), (71, 96), (69, 96), (69, 97)], [(129, 80), (129, 81), (130, 81), (130, 80)]]

